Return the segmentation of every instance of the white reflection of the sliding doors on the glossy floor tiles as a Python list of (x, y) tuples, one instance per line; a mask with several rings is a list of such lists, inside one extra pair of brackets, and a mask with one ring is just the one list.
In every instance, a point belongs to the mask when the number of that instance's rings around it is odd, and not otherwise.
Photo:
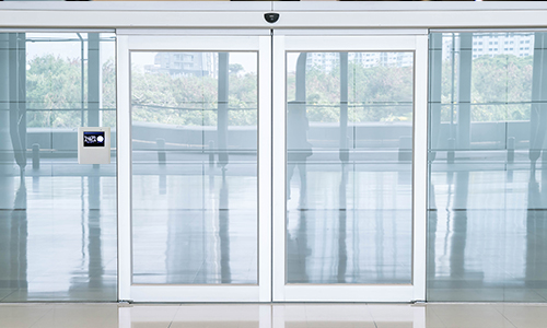
[(440, 323), (426, 306), (409, 304), (130, 305), (120, 306), (118, 316), (119, 327), (426, 328), (427, 316), (432, 327)]

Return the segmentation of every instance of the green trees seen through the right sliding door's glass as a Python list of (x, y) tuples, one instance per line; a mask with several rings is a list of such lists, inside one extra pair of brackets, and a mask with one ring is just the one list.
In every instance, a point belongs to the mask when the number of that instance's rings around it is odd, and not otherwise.
[[(412, 68), (371, 67), (350, 62), (348, 118), (354, 122), (409, 120), (412, 113)], [(295, 77), (288, 77), (289, 99), (296, 99)], [(340, 116), (340, 67), (306, 71), (310, 121), (336, 122)]]

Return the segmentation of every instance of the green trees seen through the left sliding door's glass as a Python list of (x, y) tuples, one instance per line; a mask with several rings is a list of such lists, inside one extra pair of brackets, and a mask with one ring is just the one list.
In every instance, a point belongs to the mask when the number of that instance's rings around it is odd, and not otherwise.
[[(229, 124), (257, 122), (257, 77), (241, 74), (234, 67), (229, 77)], [(219, 108), (219, 81), (211, 75), (170, 75), (135, 72), (131, 78), (133, 121), (185, 126), (216, 126)]]

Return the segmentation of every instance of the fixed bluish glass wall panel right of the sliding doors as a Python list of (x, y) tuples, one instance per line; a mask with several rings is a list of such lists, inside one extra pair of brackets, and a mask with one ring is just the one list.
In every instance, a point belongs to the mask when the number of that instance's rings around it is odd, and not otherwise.
[(429, 301), (547, 301), (546, 46), (430, 36)]

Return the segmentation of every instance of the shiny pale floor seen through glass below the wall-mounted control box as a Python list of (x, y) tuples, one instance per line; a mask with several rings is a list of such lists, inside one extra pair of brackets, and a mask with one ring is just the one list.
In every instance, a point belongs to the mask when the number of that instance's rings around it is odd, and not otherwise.
[(115, 177), (8, 179), (19, 209), (0, 210), (0, 302), (115, 301)]

